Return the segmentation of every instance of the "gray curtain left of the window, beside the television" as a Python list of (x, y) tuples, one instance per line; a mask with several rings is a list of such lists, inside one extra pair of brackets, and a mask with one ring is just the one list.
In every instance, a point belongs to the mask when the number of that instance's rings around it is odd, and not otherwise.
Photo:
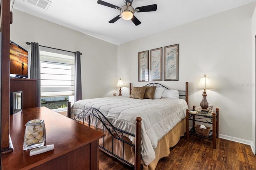
[(37, 79), (37, 107), (40, 107), (41, 89), (40, 89), (40, 56), (39, 44), (31, 43), (31, 64), (30, 64), (30, 78)]

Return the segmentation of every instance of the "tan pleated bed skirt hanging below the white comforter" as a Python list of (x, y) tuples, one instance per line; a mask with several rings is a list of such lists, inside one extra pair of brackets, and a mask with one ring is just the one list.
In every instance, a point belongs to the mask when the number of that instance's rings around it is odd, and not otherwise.
[[(92, 125), (91, 125), (92, 127)], [(102, 129), (97, 129), (101, 130)], [(171, 131), (169, 131), (162, 139), (158, 142), (157, 147), (154, 149), (156, 158), (148, 165), (146, 166), (141, 159), (141, 164), (143, 165), (143, 170), (154, 170), (156, 168), (156, 165), (158, 163), (158, 160), (160, 160), (163, 157), (166, 157), (170, 154), (170, 147), (173, 147), (178, 143), (181, 136), (184, 136), (186, 132), (186, 119), (182, 119), (180, 123), (178, 123), (174, 128), (172, 128)], [(108, 132), (104, 132), (106, 136), (104, 138), (100, 139), (100, 146), (104, 147), (107, 150), (112, 151), (112, 135)], [(104, 142), (103, 142), (104, 140)], [(124, 137), (124, 140), (131, 143), (131, 141)], [(121, 141), (118, 141), (117, 139), (113, 139), (113, 153), (120, 156), (122, 158), (122, 150), (123, 150), (123, 143)], [(103, 146), (104, 145), (104, 146)], [(101, 149), (101, 148), (100, 148)], [(102, 150), (102, 149), (101, 149)], [(105, 150), (102, 150), (106, 152)], [(108, 152), (106, 152), (109, 154)], [(110, 154), (110, 156), (113, 156)], [(115, 156), (114, 156), (115, 157)], [(131, 164), (134, 164), (134, 147), (124, 143), (124, 160), (130, 162)], [(119, 159), (120, 160), (120, 159)], [(120, 160), (123, 162), (122, 160)], [(124, 162), (125, 163), (125, 162)]]

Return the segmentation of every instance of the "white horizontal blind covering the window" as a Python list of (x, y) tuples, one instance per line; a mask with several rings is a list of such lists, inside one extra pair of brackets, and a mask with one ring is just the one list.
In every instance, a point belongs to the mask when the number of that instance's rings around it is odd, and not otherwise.
[(40, 47), (41, 97), (74, 95), (74, 53)]

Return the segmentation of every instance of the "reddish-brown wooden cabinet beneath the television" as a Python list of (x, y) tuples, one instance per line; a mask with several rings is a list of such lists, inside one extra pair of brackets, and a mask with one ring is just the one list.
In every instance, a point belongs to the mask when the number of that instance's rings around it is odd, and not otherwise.
[(22, 91), (22, 109), (37, 106), (37, 80), (36, 79), (10, 79), (10, 92)]

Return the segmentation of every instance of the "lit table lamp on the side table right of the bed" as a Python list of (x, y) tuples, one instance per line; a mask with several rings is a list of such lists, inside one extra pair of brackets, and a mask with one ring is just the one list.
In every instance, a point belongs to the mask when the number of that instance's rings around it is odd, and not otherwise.
[(215, 90), (212, 87), (212, 84), (210, 82), (210, 78), (206, 77), (206, 75), (204, 74), (204, 76), (201, 77), (200, 82), (199, 82), (197, 88), (198, 89), (204, 89), (203, 94), (202, 94), (203, 99), (202, 99), (202, 102), (200, 103), (200, 106), (202, 107), (202, 109), (207, 109), (209, 104), (208, 104), (208, 102), (206, 100), (206, 96), (207, 96), (206, 89), (208, 89), (208, 90)]

